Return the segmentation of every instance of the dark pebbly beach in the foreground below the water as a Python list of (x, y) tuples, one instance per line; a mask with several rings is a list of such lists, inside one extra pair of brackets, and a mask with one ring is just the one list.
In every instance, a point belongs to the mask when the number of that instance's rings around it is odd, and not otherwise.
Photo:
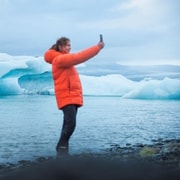
[(102, 153), (39, 157), (33, 161), (0, 165), (2, 180), (114, 180), (180, 179), (180, 139), (152, 144), (113, 144)]

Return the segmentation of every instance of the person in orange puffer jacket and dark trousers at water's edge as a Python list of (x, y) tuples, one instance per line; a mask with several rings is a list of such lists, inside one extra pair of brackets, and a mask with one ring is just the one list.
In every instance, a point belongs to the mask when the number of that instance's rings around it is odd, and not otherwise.
[(94, 57), (103, 47), (104, 42), (99, 41), (97, 45), (77, 53), (70, 53), (70, 39), (61, 37), (44, 53), (45, 61), (52, 64), (56, 102), (64, 116), (61, 135), (56, 146), (57, 157), (68, 154), (69, 140), (76, 126), (77, 111), (83, 105), (82, 86), (75, 65)]

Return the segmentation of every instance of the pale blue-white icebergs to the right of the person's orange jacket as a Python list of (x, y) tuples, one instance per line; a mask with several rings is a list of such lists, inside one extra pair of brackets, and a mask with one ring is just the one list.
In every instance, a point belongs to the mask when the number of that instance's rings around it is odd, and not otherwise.
[(180, 99), (180, 80), (132, 81), (121, 75), (81, 76), (85, 95), (121, 96), (130, 99)]

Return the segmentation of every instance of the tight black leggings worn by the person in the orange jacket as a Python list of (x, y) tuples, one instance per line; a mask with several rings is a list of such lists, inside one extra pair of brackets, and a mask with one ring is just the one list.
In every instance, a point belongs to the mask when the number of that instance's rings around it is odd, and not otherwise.
[(73, 134), (76, 127), (76, 115), (78, 107), (77, 105), (67, 105), (62, 108), (64, 114), (63, 126), (61, 130), (61, 136), (59, 142), (56, 146), (56, 150), (60, 147), (67, 147), (69, 144), (69, 139)]

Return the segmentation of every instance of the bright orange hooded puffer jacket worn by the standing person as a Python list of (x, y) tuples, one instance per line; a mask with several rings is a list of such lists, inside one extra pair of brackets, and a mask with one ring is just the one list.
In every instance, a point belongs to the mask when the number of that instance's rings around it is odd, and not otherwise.
[(100, 49), (96, 45), (78, 53), (63, 54), (53, 49), (45, 52), (45, 61), (52, 64), (54, 90), (59, 109), (68, 104), (83, 105), (81, 81), (74, 65), (92, 58)]

